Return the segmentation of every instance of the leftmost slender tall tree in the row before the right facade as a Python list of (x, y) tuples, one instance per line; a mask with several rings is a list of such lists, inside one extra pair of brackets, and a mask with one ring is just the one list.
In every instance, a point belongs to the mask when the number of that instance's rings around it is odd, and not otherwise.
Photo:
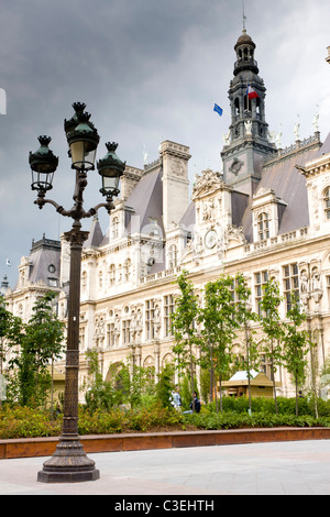
[[(175, 300), (175, 310), (172, 315), (172, 330), (175, 344), (172, 350), (177, 361), (179, 372), (188, 371), (190, 377), (191, 394), (195, 387), (194, 367), (197, 362), (194, 346), (198, 344), (196, 319), (199, 314), (198, 298), (193, 283), (188, 279), (188, 272), (177, 278), (180, 295)], [(195, 410), (193, 403), (193, 410)]]

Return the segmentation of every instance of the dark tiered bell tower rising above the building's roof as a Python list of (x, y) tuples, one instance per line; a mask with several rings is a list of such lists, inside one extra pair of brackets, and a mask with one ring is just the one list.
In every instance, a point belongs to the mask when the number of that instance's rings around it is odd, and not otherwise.
[(254, 59), (255, 43), (245, 28), (234, 50), (234, 78), (229, 88), (231, 124), (221, 153), (223, 179), (234, 190), (251, 196), (261, 179), (264, 157), (276, 153), (276, 147), (268, 141), (266, 88)]

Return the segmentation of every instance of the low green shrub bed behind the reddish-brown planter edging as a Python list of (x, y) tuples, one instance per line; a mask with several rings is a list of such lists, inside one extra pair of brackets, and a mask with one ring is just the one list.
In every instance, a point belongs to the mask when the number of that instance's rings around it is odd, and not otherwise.
[[(278, 414), (274, 400), (255, 398), (252, 415), (248, 413), (249, 402), (223, 398), (223, 413), (217, 413), (215, 405), (202, 406), (200, 414), (184, 415), (161, 403), (140, 409), (88, 411), (79, 409), (78, 432), (84, 435), (109, 435), (118, 432), (152, 432), (185, 429), (243, 429), (273, 427), (330, 427), (330, 402), (318, 402), (319, 418), (315, 417), (314, 404), (307, 398), (299, 400), (299, 416), (295, 415), (295, 399), (277, 398)], [(62, 415), (52, 420), (48, 413), (28, 407), (4, 405), (0, 410), (0, 439), (35, 438), (59, 436)]]

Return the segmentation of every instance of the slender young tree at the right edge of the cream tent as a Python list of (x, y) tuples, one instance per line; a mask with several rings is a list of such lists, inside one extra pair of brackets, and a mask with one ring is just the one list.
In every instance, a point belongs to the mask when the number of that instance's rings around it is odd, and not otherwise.
[(279, 287), (274, 278), (268, 278), (266, 284), (263, 286), (263, 298), (261, 300), (261, 309), (263, 315), (261, 316), (262, 328), (266, 337), (264, 352), (271, 361), (271, 377), (273, 381), (273, 393), (275, 400), (275, 411), (277, 414), (277, 399), (276, 399), (276, 385), (275, 385), (275, 372), (282, 364), (282, 344), (283, 339), (283, 326), (279, 316), (279, 304), (282, 297), (279, 295)]

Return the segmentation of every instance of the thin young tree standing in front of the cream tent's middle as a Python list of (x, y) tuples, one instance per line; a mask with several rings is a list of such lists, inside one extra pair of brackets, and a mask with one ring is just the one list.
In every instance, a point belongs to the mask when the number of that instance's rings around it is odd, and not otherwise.
[(260, 352), (256, 341), (253, 339), (255, 331), (251, 329), (251, 323), (257, 321), (257, 315), (252, 311), (249, 304), (251, 289), (248, 287), (246, 279), (242, 273), (235, 276), (235, 293), (238, 295), (237, 319), (242, 327), (245, 344), (245, 364), (244, 370), (248, 373), (249, 389), (249, 410), (251, 414), (251, 378), (252, 370), (260, 366)]

